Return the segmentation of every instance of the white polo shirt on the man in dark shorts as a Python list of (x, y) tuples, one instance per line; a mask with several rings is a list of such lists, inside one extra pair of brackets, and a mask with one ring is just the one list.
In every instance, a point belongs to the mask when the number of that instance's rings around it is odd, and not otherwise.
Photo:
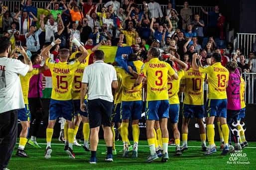
[(88, 84), (88, 100), (100, 98), (113, 102), (112, 82), (117, 80), (117, 72), (112, 65), (96, 61), (87, 66), (82, 83)]

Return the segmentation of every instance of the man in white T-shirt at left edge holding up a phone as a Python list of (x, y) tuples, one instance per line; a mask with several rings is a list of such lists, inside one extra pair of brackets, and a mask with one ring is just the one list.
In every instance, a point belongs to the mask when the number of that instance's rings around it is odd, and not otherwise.
[(19, 75), (33, 70), (25, 50), (19, 48), (25, 64), (7, 58), (11, 53), (10, 41), (0, 38), (0, 170), (7, 167), (17, 139), (17, 109), (24, 108)]

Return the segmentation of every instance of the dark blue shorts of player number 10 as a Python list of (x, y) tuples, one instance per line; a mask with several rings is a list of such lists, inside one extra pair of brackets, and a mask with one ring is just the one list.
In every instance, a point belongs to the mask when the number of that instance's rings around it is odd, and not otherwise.
[(192, 104), (183, 104), (182, 108), (182, 118), (204, 118), (204, 105), (192, 105)]

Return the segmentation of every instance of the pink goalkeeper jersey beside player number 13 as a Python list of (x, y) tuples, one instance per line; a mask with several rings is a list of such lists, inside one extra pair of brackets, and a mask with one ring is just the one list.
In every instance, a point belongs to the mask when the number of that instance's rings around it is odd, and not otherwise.
[(229, 74), (229, 83), (227, 87), (228, 107), (229, 110), (240, 110), (240, 73), (236, 69), (235, 73)]

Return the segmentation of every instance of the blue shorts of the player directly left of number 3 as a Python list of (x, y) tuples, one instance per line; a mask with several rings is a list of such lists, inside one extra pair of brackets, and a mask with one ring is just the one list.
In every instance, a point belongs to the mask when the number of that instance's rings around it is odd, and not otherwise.
[(138, 101), (122, 101), (121, 119), (141, 119), (141, 111), (143, 108), (142, 100)]

